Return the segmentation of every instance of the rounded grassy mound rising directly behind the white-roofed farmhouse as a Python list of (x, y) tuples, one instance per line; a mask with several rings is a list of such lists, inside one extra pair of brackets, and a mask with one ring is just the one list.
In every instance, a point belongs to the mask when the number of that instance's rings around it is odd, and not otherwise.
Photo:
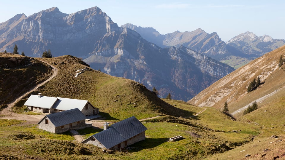
[[(58, 75), (39, 87), (44, 96), (88, 100), (107, 119), (131, 116), (143, 119), (158, 115), (188, 117), (193, 113), (170, 105), (142, 84), (95, 71), (73, 56), (41, 58), (58, 68)], [(75, 77), (79, 69), (87, 69)], [(34, 93), (36, 94), (36, 93)]]

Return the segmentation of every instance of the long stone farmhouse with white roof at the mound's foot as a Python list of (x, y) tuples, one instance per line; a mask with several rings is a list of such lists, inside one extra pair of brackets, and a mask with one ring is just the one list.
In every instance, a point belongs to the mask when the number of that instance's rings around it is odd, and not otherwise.
[(77, 100), (61, 97), (47, 97), (39, 95), (31, 95), (24, 104), (31, 111), (40, 113), (57, 113), (78, 108), (85, 116), (99, 114), (99, 109), (95, 108), (87, 100)]

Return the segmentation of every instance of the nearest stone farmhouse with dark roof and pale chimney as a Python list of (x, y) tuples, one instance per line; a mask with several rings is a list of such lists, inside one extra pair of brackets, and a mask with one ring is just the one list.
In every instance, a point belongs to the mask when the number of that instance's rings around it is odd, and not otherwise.
[(119, 121), (110, 127), (104, 124), (104, 130), (88, 137), (81, 143), (93, 144), (104, 149), (125, 148), (145, 139), (147, 128), (136, 117)]

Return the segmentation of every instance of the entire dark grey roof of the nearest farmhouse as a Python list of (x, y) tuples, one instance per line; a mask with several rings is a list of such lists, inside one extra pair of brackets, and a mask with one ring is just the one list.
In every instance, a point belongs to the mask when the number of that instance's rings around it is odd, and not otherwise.
[(93, 137), (109, 149), (146, 130), (147, 128), (132, 116), (112, 124), (109, 129), (96, 133)]

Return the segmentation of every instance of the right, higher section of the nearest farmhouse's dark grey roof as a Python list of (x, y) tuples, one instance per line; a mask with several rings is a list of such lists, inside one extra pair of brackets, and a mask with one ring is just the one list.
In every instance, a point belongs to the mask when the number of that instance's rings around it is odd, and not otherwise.
[(126, 140), (147, 130), (134, 116), (112, 124), (110, 127), (116, 129)]

